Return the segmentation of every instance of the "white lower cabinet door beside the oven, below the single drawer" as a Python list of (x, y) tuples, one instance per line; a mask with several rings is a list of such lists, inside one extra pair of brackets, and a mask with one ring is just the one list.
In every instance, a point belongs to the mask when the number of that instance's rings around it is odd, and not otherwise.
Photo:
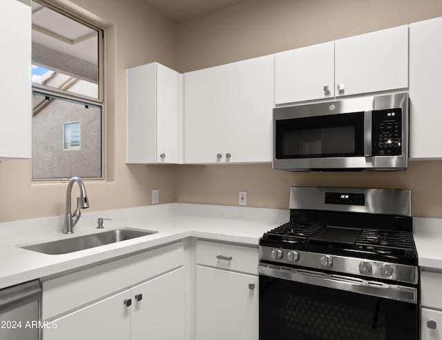
[(256, 276), (197, 266), (196, 340), (258, 340), (258, 294)]

